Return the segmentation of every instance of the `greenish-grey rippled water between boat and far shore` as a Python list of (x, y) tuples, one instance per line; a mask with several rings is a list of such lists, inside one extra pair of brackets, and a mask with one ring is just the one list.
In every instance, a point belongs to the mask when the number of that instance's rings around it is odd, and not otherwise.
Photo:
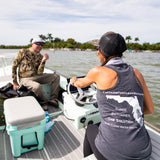
[[(0, 50), (0, 55), (12, 53), (14, 56), (17, 51)], [(92, 67), (100, 65), (96, 51), (42, 51), (45, 52), (50, 56), (46, 66), (66, 77), (86, 75)], [(123, 60), (143, 74), (155, 107), (154, 114), (145, 115), (145, 120), (160, 128), (160, 53), (125, 53)]]

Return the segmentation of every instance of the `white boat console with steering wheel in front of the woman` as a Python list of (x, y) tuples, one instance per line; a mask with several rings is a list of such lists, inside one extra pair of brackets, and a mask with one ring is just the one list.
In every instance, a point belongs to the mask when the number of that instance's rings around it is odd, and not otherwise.
[(60, 107), (66, 118), (77, 129), (99, 123), (101, 119), (96, 103), (96, 88), (94, 86), (76, 88), (69, 80), (64, 77), (60, 79), (60, 87), (63, 88), (63, 102), (60, 102)]

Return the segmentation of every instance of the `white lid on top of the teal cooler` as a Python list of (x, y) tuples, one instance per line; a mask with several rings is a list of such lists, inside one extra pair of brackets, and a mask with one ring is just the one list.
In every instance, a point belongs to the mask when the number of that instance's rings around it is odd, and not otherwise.
[(7, 124), (11, 126), (41, 121), (45, 118), (44, 110), (32, 96), (6, 99), (4, 113)]

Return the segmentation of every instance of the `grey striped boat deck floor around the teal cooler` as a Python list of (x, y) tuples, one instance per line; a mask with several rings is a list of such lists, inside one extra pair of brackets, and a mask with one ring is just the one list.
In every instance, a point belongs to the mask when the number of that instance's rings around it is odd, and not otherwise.
[[(55, 110), (54, 108), (49, 108)], [(49, 111), (50, 111), (49, 110)], [(57, 111), (57, 110), (56, 110)], [(83, 158), (83, 139), (85, 129), (75, 129), (72, 123), (61, 113), (54, 116), (54, 126), (45, 135), (44, 148), (21, 154), (14, 158), (10, 140), (6, 131), (0, 131), (0, 160), (80, 160)]]

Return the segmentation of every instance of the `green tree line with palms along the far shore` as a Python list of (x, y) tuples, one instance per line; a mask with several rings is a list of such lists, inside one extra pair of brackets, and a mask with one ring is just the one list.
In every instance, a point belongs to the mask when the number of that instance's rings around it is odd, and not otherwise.
[[(80, 50), (85, 50), (85, 49), (96, 49), (96, 46), (91, 44), (91, 42), (85, 42), (85, 43), (80, 43), (75, 41), (73, 38), (68, 38), (66, 41), (64, 39), (61, 39), (59, 37), (53, 37), (51, 33), (48, 33), (47, 35), (40, 34), (40, 38), (42, 38), (46, 43), (43, 46), (45, 49), (49, 48), (55, 48), (55, 49), (61, 49), (61, 48), (69, 48), (69, 49), (80, 49)], [(1, 49), (19, 49), (19, 48), (28, 48), (31, 46), (33, 38), (30, 39), (30, 44), (25, 45), (25, 46), (15, 46), (15, 45), (0, 45)], [(126, 36), (125, 37), (126, 44), (128, 50), (153, 50), (153, 51), (160, 51), (160, 42), (155, 43), (155, 44), (150, 44), (149, 42), (139, 44), (139, 38), (135, 37), (134, 41), (131, 42), (132, 37), (131, 36)], [(98, 40), (97, 40), (98, 44)]]

